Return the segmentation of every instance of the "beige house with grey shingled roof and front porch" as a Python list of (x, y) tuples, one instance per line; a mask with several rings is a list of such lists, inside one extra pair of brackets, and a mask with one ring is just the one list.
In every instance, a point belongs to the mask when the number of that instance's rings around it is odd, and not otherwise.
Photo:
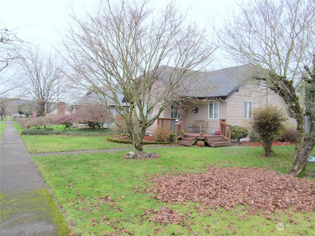
[[(163, 119), (172, 119), (182, 121), (182, 129), (186, 132), (193, 132), (189, 124), (202, 119), (207, 121), (207, 133), (211, 133), (220, 130), (220, 121), (231, 126), (248, 126), (255, 108), (275, 105), (285, 111), (287, 106), (281, 96), (267, 88), (266, 81), (249, 64), (202, 72), (199, 83), (203, 88), (209, 86), (208, 89), (193, 95), (193, 102), (174, 102), (147, 131), (152, 132)], [(296, 125), (295, 119), (288, 119)], [(194, 132), (199, 133), (199, 130)]]

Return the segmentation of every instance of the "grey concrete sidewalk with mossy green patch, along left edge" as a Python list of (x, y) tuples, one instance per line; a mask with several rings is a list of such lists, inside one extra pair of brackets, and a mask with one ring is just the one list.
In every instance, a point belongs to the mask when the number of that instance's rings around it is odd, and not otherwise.
[(64, 217), (13, 122), (0, 140), (1, 236), (65, 236)]

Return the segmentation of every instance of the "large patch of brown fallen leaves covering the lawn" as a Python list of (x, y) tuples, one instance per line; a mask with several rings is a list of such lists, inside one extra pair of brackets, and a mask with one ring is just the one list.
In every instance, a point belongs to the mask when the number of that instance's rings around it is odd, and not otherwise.
[[(162, 202), (198, 202), (213, 209), (250, 206), (249, 213), (315, 210), (315, 181), (259, 168), (211, 168), (207, 173), (150, 178)], [(162, 214), (160, 214), (162, 215)]]

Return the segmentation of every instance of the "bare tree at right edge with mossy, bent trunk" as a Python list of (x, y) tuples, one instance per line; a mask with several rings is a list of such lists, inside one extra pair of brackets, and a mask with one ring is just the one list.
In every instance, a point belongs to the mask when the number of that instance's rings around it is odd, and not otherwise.
[[(306, 84), (315, 87), (315, 1), (252, 0), (239, 10), (220, 31), (222, 45), (235, 61), (263, 69), (269, 87), (284, 98), (298, 134), (290, 174), (304, 176), (315, 146), (314, 97), (301, 92)], [(312, 119), (306, 139), (305, 114)]]

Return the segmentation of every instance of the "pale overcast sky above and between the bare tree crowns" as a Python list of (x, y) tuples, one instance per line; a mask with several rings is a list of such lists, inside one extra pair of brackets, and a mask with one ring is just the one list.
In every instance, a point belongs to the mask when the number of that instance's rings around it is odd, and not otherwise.
[[(14, 30), (19, 38), (42, 48), (51, 48), (60, 42), (63, 30), (69, 24), (70, 6), (76, 14), (84, 12), (98, 0), (0, 0), (0, 29)], [(189, 8), (189, 17), (200, 24), (214, 12), (226, 14), (233, 0), (175, 0), (183, 9)], [(154, 0), (165, 5), (167, 0)], [(164, 4), (163, 4), (164, 2)]]

